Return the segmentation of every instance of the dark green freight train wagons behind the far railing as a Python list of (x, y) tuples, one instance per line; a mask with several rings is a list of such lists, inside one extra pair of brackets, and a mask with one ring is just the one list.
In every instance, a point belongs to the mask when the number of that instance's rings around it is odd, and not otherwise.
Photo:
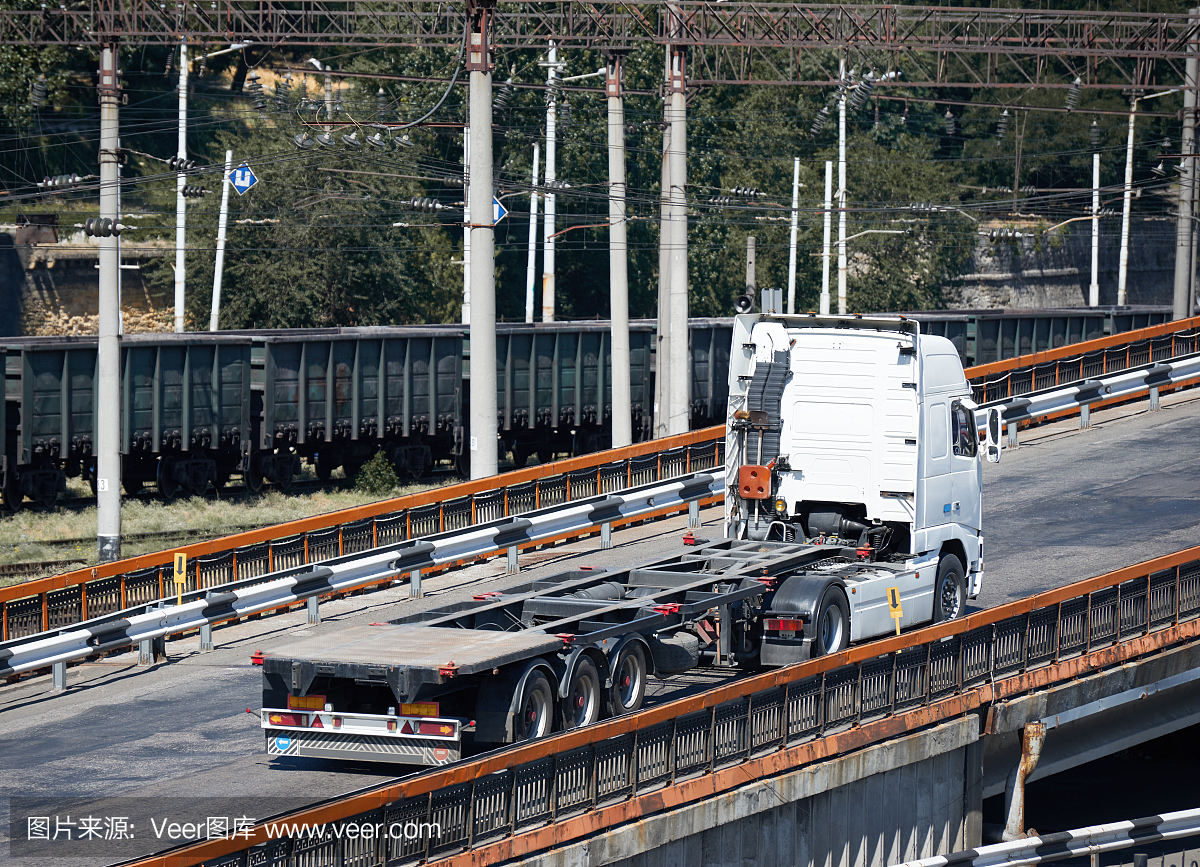
[[(964, 364), (1026, 354), (1169, 318), (1165, 310), (948, 311), (916, 315)], [(694, 427), (724, 424), (732, 319), (689, 322)], [(461, 325), (128, 335), (121, 406), (96, 407), (95, 337), (8, 337), (0, 498), (52, 506), (67, 478), (95, 483), (95, 415), (120, 411), (127, 494), (172, 498), (223, 488), (288, 488), (310, 464), (353, 477), (383, 452), (420, 477), (466, 473), (470, 341)], [(650, 436), (655, 323), (630, 323), (634, 440)], [(516, 466), (607, 448), (607, 322), (497, 325), (497, 421)]]

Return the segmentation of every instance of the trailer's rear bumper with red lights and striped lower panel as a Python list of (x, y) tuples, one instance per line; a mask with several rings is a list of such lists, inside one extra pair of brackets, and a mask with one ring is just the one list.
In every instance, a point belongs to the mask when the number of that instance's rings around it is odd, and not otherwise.
[(264, 707), (269, 755), (449, 765), (462, 758), (462, 720)]

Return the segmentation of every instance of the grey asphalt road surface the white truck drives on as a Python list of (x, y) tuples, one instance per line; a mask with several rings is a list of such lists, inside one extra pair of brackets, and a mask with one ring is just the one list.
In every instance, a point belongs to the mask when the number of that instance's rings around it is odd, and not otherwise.
[[(1021, 447), (1007, 450), (1000, 465), (984, 465), (986, 578), (974, 608), (1200, 544), (1200, 395), (1164, 401), (1159, 413), (1141, 405), (1093, 418), (1090, 431), (1067, 421), (1022, 435)], [(706, 532), (719, 532), (718, 509), (704, 520)], [(71, 850), (54, 850), (54, 860), (12, 850), (0, 861), (107, 865), (164, 848), (170, 841), (156, 835), (163, 819), (260, 819), (392, 779), (403, 769), (268, 758), (254, 713), (260, 675), (251, 653), (298, 634), (469, 598), (484, 585), (653, 560), (677, 550), (683, 526), (672, 519), (618, 533), (611, 551), (587, 539), (526, 554), (520, 576), (505, 578), (498, 558), (427, 578), (421, 602), (408, 599), (401, 586), (325, 603), (319, 627), (306, 627), (302, 611), (226, 627), (215, 634), (216, 651), (199, 653), (197, 639), (188, 638), (170, 644), (170, 660), (150, 670), (139, 670), (133, 654), (79, 665), (68, 670), (70, 688), (61, 695), (50, 692), (48, 677), (0, 687), (0, 791), (14, 799), (14, 815), (30, 801), (35, 814), (73, 821), (126, 815), (134, 837), (121, 849), (76, 841)], [(694, 692), (714, 677), (697, 672), (678, 686), (656, 683), (652, 695)], [(18, 837), (26, 830), (23, 821), (13, 829)], [(73, 830), (78, 836), (78, 825)]]

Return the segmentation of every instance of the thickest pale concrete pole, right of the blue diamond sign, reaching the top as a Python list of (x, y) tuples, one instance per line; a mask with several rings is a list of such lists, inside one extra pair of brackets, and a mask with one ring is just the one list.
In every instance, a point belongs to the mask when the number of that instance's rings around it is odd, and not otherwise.
[(492, 48), (496, 0), (468, 0), (470, 46), (470, 478), (496, 476), (496, 227), (492, 222)]

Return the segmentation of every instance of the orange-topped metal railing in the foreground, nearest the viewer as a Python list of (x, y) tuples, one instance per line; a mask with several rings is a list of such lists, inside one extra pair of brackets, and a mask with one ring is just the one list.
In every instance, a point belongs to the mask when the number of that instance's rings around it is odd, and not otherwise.
[[(138, 867), (488, 865), (1200, 638), (1200, 548), (407, 777)], [(332, 827), (437, 833), (353, 839)]]

